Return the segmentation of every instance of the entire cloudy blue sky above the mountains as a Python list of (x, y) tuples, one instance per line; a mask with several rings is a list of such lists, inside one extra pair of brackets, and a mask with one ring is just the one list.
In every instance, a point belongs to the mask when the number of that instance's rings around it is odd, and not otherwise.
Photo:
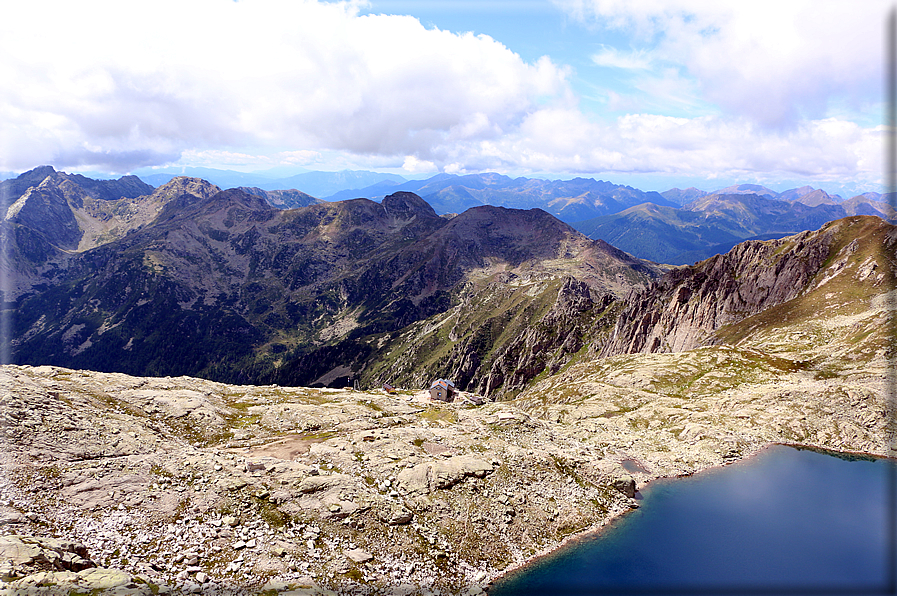
[(0, 171), (883, 192), (892, 2), (4, 3)]

